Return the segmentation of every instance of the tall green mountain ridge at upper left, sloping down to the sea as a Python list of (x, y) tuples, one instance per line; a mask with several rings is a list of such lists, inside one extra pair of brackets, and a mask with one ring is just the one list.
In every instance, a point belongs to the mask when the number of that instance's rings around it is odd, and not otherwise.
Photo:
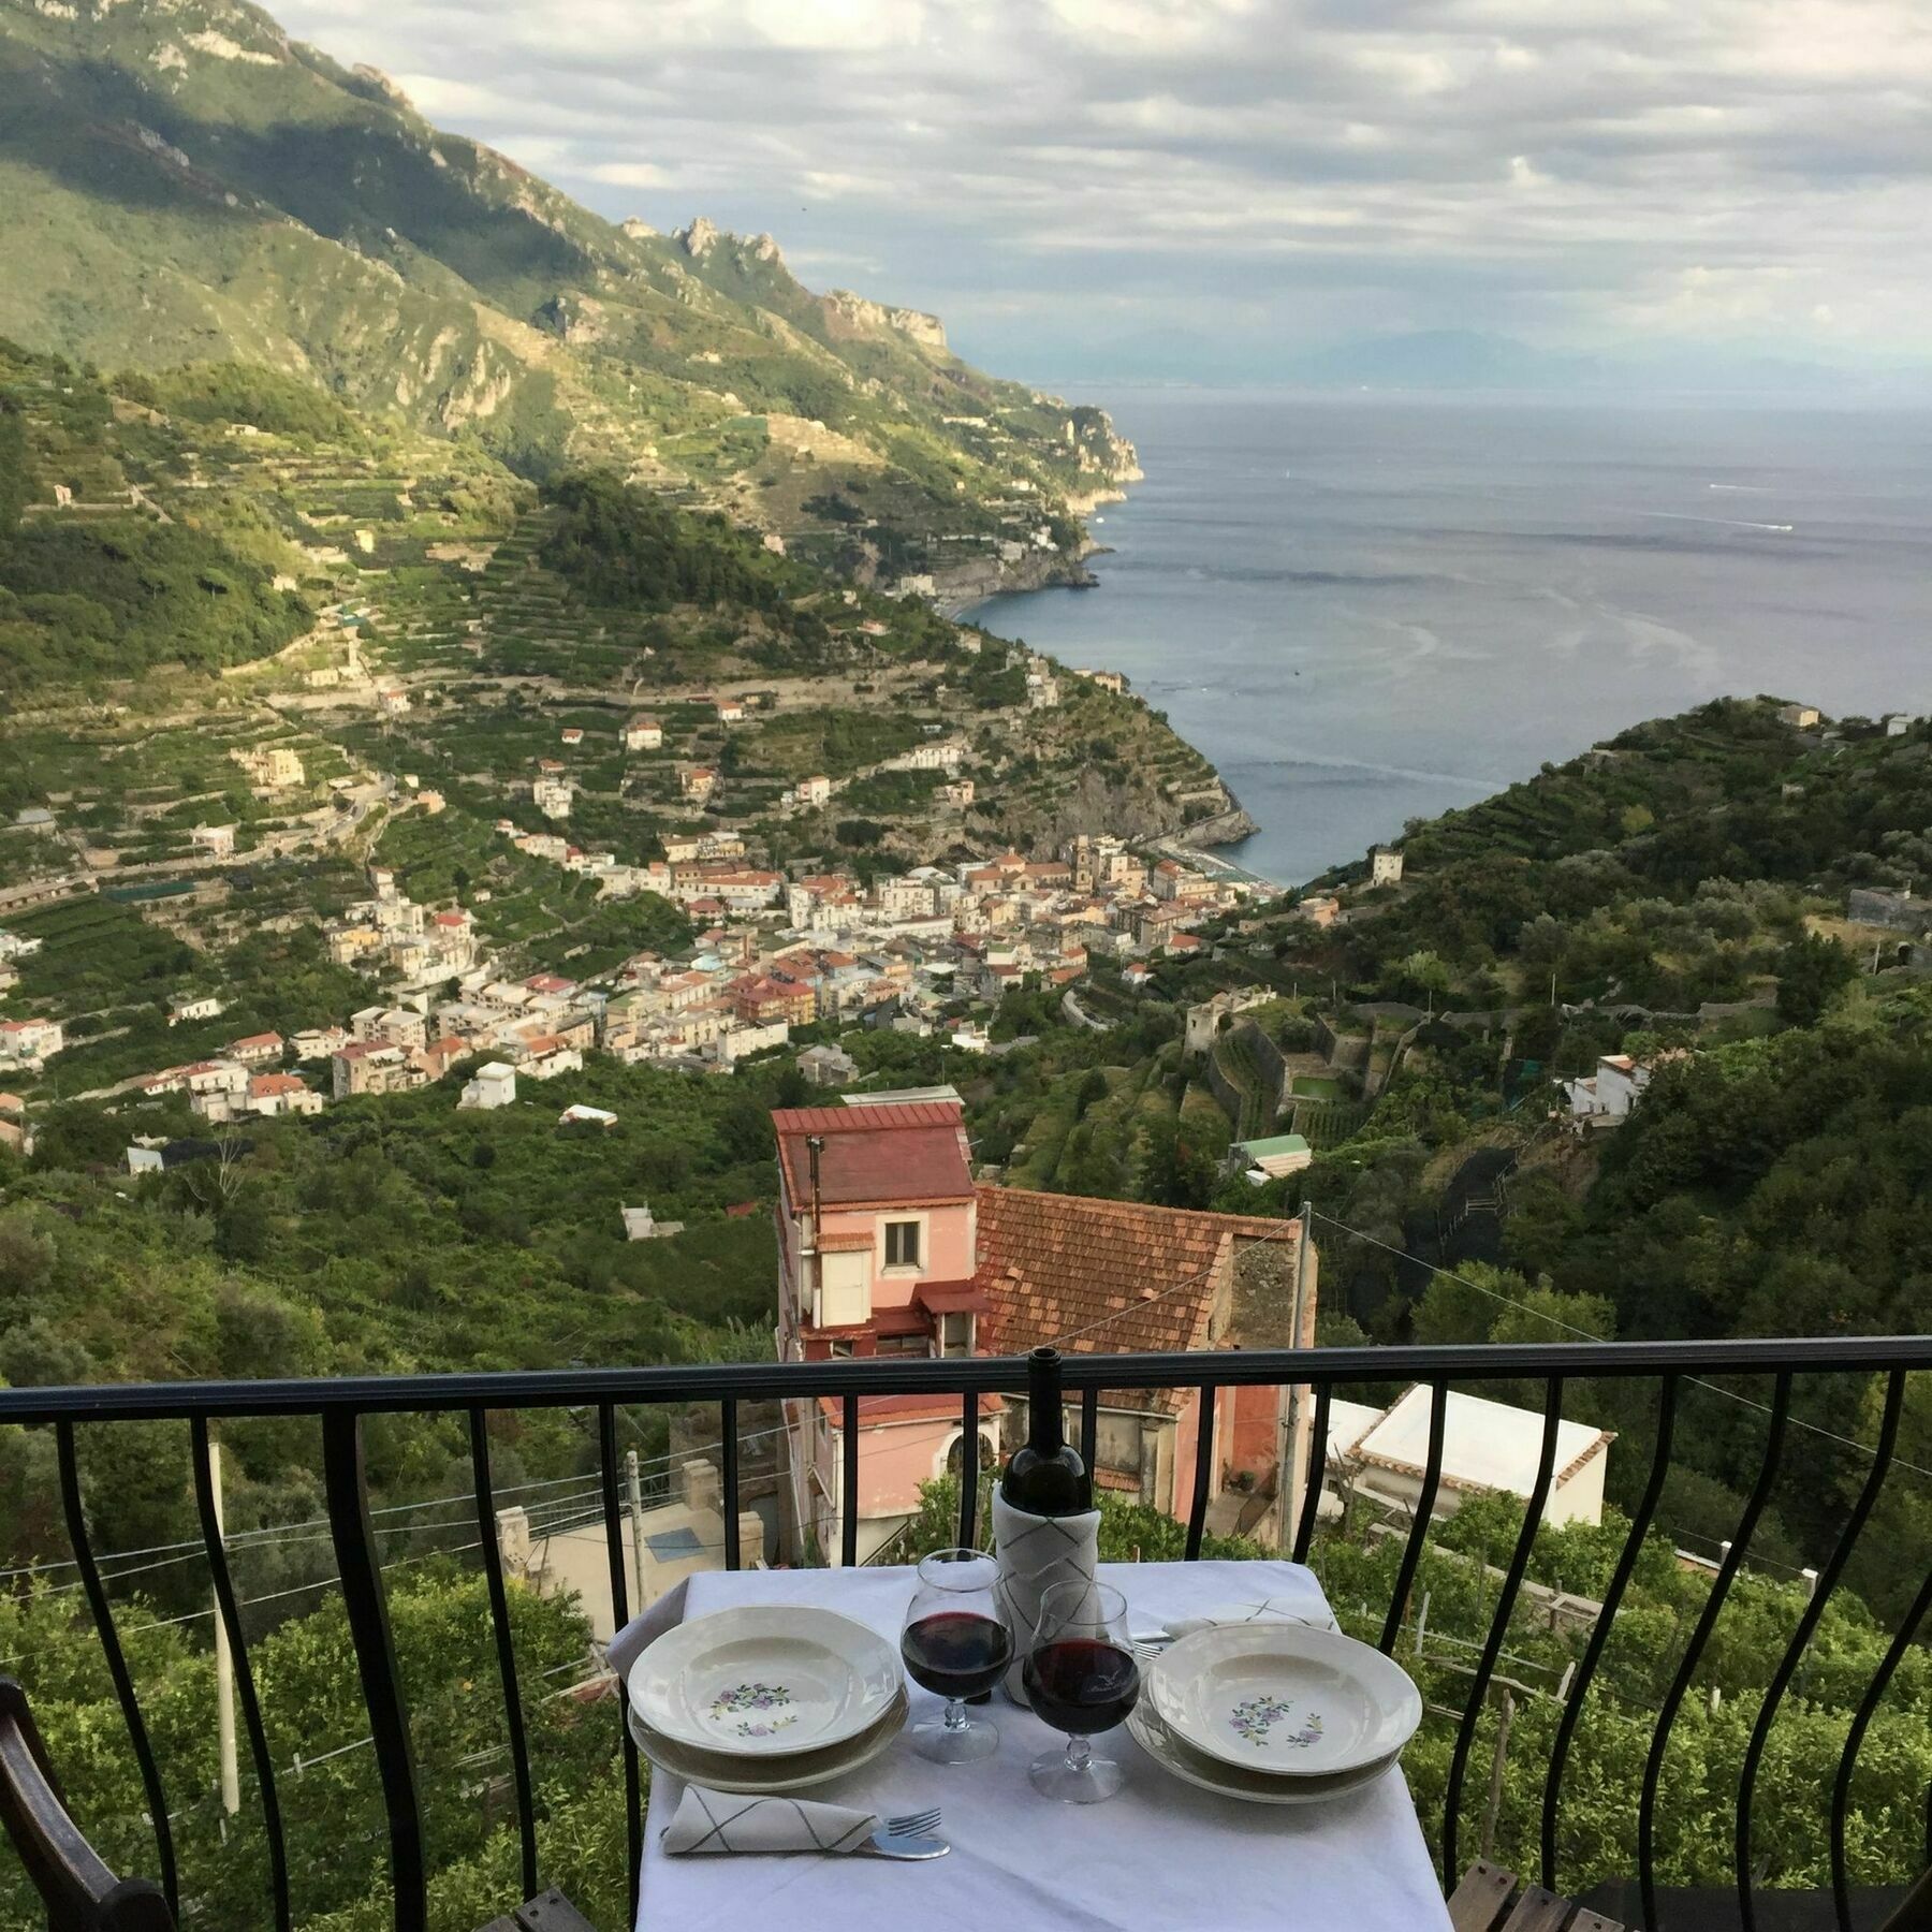
[(0, 259), (27, 348), (259, 363), (781, 529), (846, 485), (848, 527), (1078, 514), (1132, 469), (935, 317), (813, 294), (769, 236), (609, 222), (242, 0), (0, 0)]

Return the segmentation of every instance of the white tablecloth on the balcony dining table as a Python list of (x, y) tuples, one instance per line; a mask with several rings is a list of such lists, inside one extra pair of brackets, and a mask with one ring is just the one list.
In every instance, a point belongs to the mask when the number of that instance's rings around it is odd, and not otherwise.
[[(1294, 1563), (1105, 1563), (1136, 1631), (1260, 1596), (1327, 1604)], [(906, 1569), (701, 1573), (634, 1619), (611, 1644), (622, 1675), (684, 1617), (728, 1604), (821, 1604), (869, 1623), (895, 1646), (912, 1592)], [(912, 1721), (939, 1698), (908, 1685)], [(1055, 1804), (1026, 1781), (1057, 1741), (1005, 1698), (976, 1714), (999, 1725), (980, 1764), (927, 1764), (906, 1737), (813, 1797), (867, 1810), (945, 1806), (952, 1855), (931, 1864), (879, 1859), (670, 1859), (657, 1843), (682, 1785), (651, 1774), (639, 1932), (1441, 1932), (1449, 1924), (1401, 1772), (1333, 1804), (1240, 1804), (1169, 1777), (1126, 1729), (1095, 1748), (1126, 1768), (1105, 1804)]]

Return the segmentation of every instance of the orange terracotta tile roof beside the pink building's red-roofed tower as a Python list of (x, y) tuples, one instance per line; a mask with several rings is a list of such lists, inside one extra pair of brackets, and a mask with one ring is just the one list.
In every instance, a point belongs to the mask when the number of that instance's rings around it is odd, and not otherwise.
[[(1231, 1312), (1233, 1264), (1250, 1240), (1289, 1242), (1293, 1221), (1194, 1213), (1140, 1202), (978, 1188), (980, 1281), (993, 1316), (987, 1354), (1057, 1343), (1068, 1354), (1208, 1349), (1217, 1296)], [(1126, 1391), (1138, 1408), (1175, 1408), (1173, 1389)]]

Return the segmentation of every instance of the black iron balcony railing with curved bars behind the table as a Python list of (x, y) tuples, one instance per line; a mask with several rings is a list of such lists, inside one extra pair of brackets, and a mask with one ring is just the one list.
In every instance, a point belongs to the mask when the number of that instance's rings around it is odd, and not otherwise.
[[(1577, 1669), (1563, 1692), (1563, 1710), (1542, 1793), (1542, 1882), (1551, 1889), (1561, 1884), (1557, 1818), (1563, 1797), (1563, 1777), (1577, 1733), (1582, 1702), (1590, 1690), (1604, 1646), (1636, 1567), (1644, 1538), (1656, 1520), (1663, 1484), (1671, 1468), (1671, 1447), (1683, 1387), (1712, 1376), (1762, 1376), (1772, 1381), (1766, 1406), (1768, 1432), (1762, 1463), (1743, 1505), (1735, 1532), (1716, 1569), (1704, 1609), (1685, 1644), (1675, 1677), (1656, 1714), (1650, 1750), (1644, 1764), (1638, 1799), (1638, 1884), (1644, 1897), (1644, 1922), (1658, 1926), (1656, 1911), (1656, 1816), (1665, 1750), (1677, 1714), (1690, 1690), (1692, 1679), (1725, 1598), (1745, 1565), (1752, 1532), (1764, 1515), (1772, 1488), (1787, 1463), (1793, 1428), (1793, 1389), (1799, 1378), (1884, 1376), (1884, 1414), (1876, 1443), (1862, 1445), (1870, 1455), (1870, 1470), (1859, 1488), (1843, 1528), (1818, 1571), (1812, 1598), (1779, 1658), (1764, 1696), (1750, 1747), (1745, 1756), (1737, 1803), (1737, 1899), (1743, 1924), (1754, 1918), (1752, 1874), (1752, 1816), (1756, 1777), (1766, 1739), (1777, 1716), (1779, 1702), (1799, 1669), (1804, 1650), (1818, 1629), (1826, 1604), (1835, 1590), (1861, 1532), (1878, 1501), (1880, 1490), (1893, 1468), (1899, 1434), (1899, 1410), (1909, 1372), (1932, 1370), (1932, 1337), (1859, 1337), (1833, 1341), (1729, 1341), (1729, 1343), (1553, 1343), (1538, 1347), (1459, 1347), (1459, 1349), (1323, 1349), (1323, 1350), (1233, 1350), (1209, 1354), (1136, 1354), (1136, 1356), (1070, 1356), (1066, 1360), (1068, 1389), (1080, 1403), (1080, 1437), (1088, 1457), (1094, 1455), (1101, 1389), (1198, 1389), (1198, 1435), (1194, 1486), (1186, 1519), (1186, 1555), (1200, 1555), (1208, 1505), (1213, 1490), (1213, 1443), (1217, 1395), (1238, 1387), (1308, 1387), (1314, 1393), (1312, 1441), (1306, 1457), (1308, 1488), (1294, 1515), (1291, 1553), (1306, 1559), (1316, 1530), (1321, 1470), (1329, 1439), (1333, 1391), (1360, 1383), (1422, 1383), (1430, 1389), (1430, 1428), (1420, 1488), (1410, 1509), (1410, 1528), (1403, 1542), (1387, 1619), (1381, 1629), (1381, 1648), (1393, 1650), (1403, 1631), (1416, 1569), (1430, 1536), (1432, 1507), (1437, 1497), (1443, 1468), (1443, 1435), (1451, 1383), (1540, 1383), (1542, 1435), (1540, 1455), (1522, 1530), (1511, 1549), (1509, 1565), (1497, 1592), (1478, 1662), (1468, 1673), (1468, 1694), (1461, 1710), (1449, 1764), (1447, 1799), (1439, 1835), (1441, 1866), (1453, 1878), (1459, 1870), (1459, 1816), (1468, 1774), (1470, 1752), (1486, 1694), (1495, 1677), (1511, 1617), (1517, 1609), (1522, 1582), (1532, 1557), (1536, 1526), (1546, 1497), (1557, 1476), (1557, 1426), (1565, 1385), (1580, 1379), (1648, 1378), (1658, 1383), (1658, 1430), (1648, 1476), (1634, 1503), (1634, 1515), (1621, 1548), (1615, 1571), (1604, 1592), (1602, 1609), (1590, 1631)], [(690, 1368), (529, 1372), (495, 1376), (394, 1376), (344, 1378), (334, 1381), (189, 1381), (153, 1385), (93, 1385), (75, 1389), (0, 1389), (0, 1424), (52, 1426), (60, 1492), (66, 1526), (73, 1546), (73, 1563), (93, 1615), (106, 1658), (114, 1694), (128, 1723), (129, 1743), (139, 1762), (147, 1808), (155, 1828), (155, 1855), (160, 1882), (170, 1901), (180, 1897), (182, 1874), (168, 1830), (168, 1801), (160, 1770), (143, 1721), (137, 1687), (128, 1669), (114, 1604), (95, 1559), (75, 1461), (75, 1430), (143, 1420), (185, 1420), (191, 1435), (195, 1495), (201, 1534), (213, 1571), (222, 1627), (234, 1652), (236, 1689), (247, 1727), (249, 1748), (261, 1781), (263, 1822), (269, 1837), (272, 1913), (278, 1928), (290, 1926), (288, 1857), (282, 1843), (280, 1810), (276, 1803), (274, 1764), (265, 1741), (261, 1706), (247, 1665), (236, 1592), (230, 1582), (224, 1540), (211, 1493), (209, 1424), (224, 1418), (309, 1416), (319, 1418), (323, 1434), (323, 1480), (328, 1507), (328, 1534), (340, 1571), (350, 1634), (361, 1675), (361, 1692), (369, 1716), (375, 1758), (381, 1774), (383, 1804), (388, 1826), (388, 1862), (394, 1880), (394, 1924), (398, 1932), (421, 1932), (427, 1924), (427, 1861), (417, 1791), (415, 1762), (410, 1741), (410, 1721), (390, 1640), (388, 1609), (383, 1590), (383, 1559), (371, 1526), (367, 1476), (363, 1468), (363, 1418), (375, 1414), (429, 1414), (460, 1418), (468, 1426), (469, 1463), (475, 1484), (475, 1519), (489, 1586), (489, 1605), (497, 1663), (508, 1725), (512, 1781), (522, 1837), (522, 1880), (526, 1893), (539, 1889), (539, 1859), (533, 1806), (533, 1777), (526, 1741), (524, 1706), (516, 1681), (510, 1646), (502, 1559), (497, 1542), (495, 1501), (491, 1486), (491, 1449), (487, 1418), (497, 1410), (572, 1408), (589, 1410), (597, 1420), (601, 1461), (601, 1505), (611, 1551), (611, 1600), (616, 1625), (630, 1615), (622, 1509), (616, 1447), (616, 1412), (632, 1405), (692, 1405), (717, 1403), (721, 1408), (723, 1443), (723, 1501), (724, 1567), (742, 1561), (738, 1536), (740, 1459), (738, 1412), (752, 1401), (796, 1401), (833, 1397), (840, 1403), (842, 1420), (842, 1497), (840, 1559), (858, 1561), (858, 1459), (860, 1459), (860, 1399), (866, 1395), (956, 1395), (962, 1422), (960, 1519), (958, 1536), (972, 1544), (978, 1530), (978, 1449), (980, 1397), (985, 1393), (1018, 1393), (1024, 1389), (1022, 1358), (877, 1358), (811, 1364), (705, 1364)], [(1291, 1499), (1293, 1501), (1293, 1499)], [(1905, 1611), (1880, 1669), (1868, 1685), (1837, 1766), (1832, 1789), (1830, 1862), (1835, 1918), (1841, 1932), (1851, 1932), (1849, 1874), (1847, 1874), (1847, 1808), (1849, 1787), (1857, 1770), (1859, 1750), (1884, 1702), (1886, 1690), (1905, 1660), (1918, 1625), (1932, 1609), (1932, 1575), (1926, 1577), (1915, 1602)], [(622, 1729), (622, 1727), (620, 1727)], [(636, 1895), (638, 1862), (641, 1859), (641, 1777), (636, 1747), (628, 1731), (622, 1735), (624, 1781), (628, 1808), (628, 1849), (632, 1897)], [(1932, 1861), (1932, 1814), (1928, 1814), (1928, 1861)]]

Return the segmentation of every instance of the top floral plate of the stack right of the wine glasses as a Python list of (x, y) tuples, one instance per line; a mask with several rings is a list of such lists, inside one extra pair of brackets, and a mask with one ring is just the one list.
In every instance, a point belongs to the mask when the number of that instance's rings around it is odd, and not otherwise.
[(1422, 1721), (1422, 1692), (1379, 1650), (1304, 1623), (1217, 1625), (1148, 1671), (1148, 1700), (1196, 1750), (1275, 1777), (1387, 1760)]

